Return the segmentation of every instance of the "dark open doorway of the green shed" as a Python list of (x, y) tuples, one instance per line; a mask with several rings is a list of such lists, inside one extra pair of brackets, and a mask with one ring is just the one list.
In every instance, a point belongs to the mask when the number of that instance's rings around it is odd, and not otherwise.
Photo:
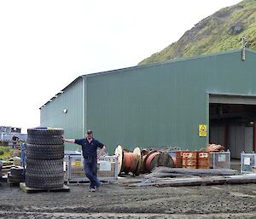
[(210, 96), (209, 142), (230, 149), (231, 158), (256, 145), (256, 97)]

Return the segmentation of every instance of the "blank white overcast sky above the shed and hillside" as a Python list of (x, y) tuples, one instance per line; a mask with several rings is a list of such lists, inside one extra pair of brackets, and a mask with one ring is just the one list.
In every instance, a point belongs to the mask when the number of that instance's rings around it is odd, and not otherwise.
[(237, 0), (0, 0), (0, 125), (40, 124), (39, 107), (79, 75), (136, 66)]

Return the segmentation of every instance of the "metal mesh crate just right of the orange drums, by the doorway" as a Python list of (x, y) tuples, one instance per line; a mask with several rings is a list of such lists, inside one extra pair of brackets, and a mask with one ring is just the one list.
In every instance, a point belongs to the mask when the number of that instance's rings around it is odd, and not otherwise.
[(211, 152), (210, 168), (212, 169), (230, 169), (230, 151)]

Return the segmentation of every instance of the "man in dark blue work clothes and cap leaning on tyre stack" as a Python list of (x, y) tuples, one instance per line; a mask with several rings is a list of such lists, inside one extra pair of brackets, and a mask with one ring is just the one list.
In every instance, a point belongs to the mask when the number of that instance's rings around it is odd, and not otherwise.
[[(106, 150), (106, 146), (93, 138), (93, 133), (91, 130), (86, 131), (85, 138), (64, 139), (64, 141), (82, 146), (85, 175), (90, 180), (90, 192), (95, 192), (96, 189), (101, 185), (101, 182), (99, 182), (96, 176), (97, 158), (100, 158), (103, 155)], [(97, 147), (101, 148), (98, 155)]]

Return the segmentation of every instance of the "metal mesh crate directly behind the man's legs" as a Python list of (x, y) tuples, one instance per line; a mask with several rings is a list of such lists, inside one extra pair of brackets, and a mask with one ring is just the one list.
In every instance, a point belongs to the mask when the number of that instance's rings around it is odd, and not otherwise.
[[(85, 176), (84, 158), (81, 155), (68, 155), (66, 158), (66, 182), (89, 182)], [(101, 182), (115, 182), (118, 179), (116, 156), (104, 156), (97, 162), (97, 176)]]

